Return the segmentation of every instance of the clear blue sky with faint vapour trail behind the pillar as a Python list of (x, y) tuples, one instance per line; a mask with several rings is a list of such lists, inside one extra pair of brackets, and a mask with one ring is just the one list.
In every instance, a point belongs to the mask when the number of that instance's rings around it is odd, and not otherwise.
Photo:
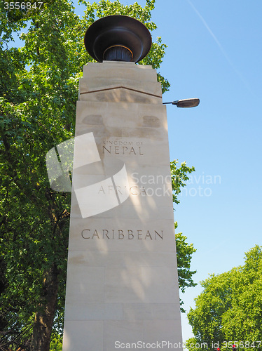
[[(261, 245), (261, 13), (261, 0), (156, 0), (152, 12), (153, 40), (168, 45), (163, 100), (200, 98), (192, 109), (167, 105), (170, 160), (196, 169), (174, 211), (197, 249), (195, 282), (243, 265), (244, 253)], [(200, 291), (181, 294), (187, 311)], [(182, 321), (186, 340), (186, 314)]]

